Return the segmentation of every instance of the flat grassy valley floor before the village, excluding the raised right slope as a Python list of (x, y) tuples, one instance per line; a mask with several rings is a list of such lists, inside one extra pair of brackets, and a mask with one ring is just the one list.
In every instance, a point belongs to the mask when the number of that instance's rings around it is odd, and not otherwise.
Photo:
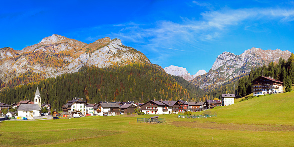
[(162, 115), (166, 124), (141, 124), (145, 116), (84, 117), (46, 121), (4, 121), (0, 146), (42, 147), (212, 147), (294, 146), (294, 126), (235, 124), (215, 118)]

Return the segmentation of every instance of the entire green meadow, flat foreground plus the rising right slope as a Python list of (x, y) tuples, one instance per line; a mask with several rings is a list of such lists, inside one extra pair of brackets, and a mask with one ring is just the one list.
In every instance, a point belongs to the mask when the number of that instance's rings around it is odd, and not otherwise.
[(217, 117), (160, 115), (166, 124), (136, 123), (137, 118), (152, 115), (4, 121), (0, 123), (0, 147), (294, 146), (294, 92), (255, 97), (209, 111)]

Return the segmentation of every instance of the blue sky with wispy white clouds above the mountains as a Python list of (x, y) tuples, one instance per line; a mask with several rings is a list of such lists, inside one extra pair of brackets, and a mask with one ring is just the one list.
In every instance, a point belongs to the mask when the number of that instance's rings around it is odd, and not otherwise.
[(163, 68), (195, 74), (224, 51), (293, 52), (294, 1), (1, 0), (0, 28), (0, 48), (20, 50), (52, 34), (85, 43), (108, 36)]

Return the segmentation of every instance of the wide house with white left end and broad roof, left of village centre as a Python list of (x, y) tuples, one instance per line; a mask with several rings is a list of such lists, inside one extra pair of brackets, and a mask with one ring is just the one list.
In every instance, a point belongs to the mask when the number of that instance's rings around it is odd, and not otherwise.
[(120, 106), (117, 103), (99, 103), (96, 111), (99, 116), (115, 116), (121, 114)]

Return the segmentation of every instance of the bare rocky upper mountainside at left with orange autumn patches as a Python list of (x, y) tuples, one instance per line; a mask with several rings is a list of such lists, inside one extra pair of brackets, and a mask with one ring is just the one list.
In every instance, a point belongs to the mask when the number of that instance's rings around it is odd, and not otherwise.
[(119, 39), (106, 37), (87, 44), (53, 34), (22, 50), (1, 48), (0, 80), (7, 82), (28, 71), (49, 78), (76, 72), (82, 66), (103, 68), (135, 62), (151, 64), (143, 53), (124, 46)]

